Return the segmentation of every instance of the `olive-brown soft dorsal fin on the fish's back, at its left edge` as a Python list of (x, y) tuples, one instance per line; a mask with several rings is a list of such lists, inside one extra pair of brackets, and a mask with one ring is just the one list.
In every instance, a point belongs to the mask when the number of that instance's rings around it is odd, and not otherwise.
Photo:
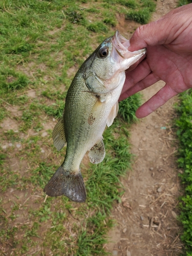
[(58, 151), (66, 144), (66, 136), (64, 130), (64, 120), (63, 116), (59, 119), (58, 123), (55, 125), (52, 138), (54, 146), (57, 148)]

